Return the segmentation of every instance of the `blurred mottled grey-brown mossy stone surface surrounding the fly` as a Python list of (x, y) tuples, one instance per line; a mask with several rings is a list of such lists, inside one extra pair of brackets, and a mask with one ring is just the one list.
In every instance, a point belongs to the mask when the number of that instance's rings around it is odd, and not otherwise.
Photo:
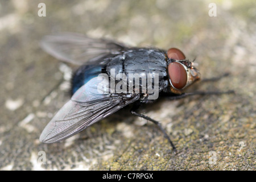
[[(255, 170), (255, 20), (253, 0), (1, 1), (0, 169)], [(236, 94), (165, 100), (141, 110), (162, 123), (177, 155), (155, 125), (129, 110), (63, 142), (40, 143), (69, 100), (76, 69), (39, 47), (56, 32), (179, 48), (196, 58), (203, 78), (230, 73), (191, 89)]]

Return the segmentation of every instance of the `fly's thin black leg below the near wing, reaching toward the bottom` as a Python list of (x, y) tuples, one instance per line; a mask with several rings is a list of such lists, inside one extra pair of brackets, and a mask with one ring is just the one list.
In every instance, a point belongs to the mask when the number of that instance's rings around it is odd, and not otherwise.
[(155, 121), (154, 119), (151, 119), (150, 117), (147, 117), (146, 115), (143, 114), (139, 114), (136, 112), (136, 110), (139, 108), (139, 106), (141, 106), (141, 103), (139, 102), (135, 102), (135, 104), (133, 105), (133, 108), (130, 110), (131, 114), (137, 115), (138, 117), (147, 119), (148, 121), (151, 121), (152, 123), (154, 123), (155, 125), (157, 125), (159, 127), (159, 129), (163, 132), (164, 137), (166, 137), (168, 139), (168, 142), (171, 144), (172, 149), (174, 150), (174, 153), (177, 154), (177, 150), (176, 147), (174, 146), (174, 143), (172, 143), (172, 140), (170, 139), (170, 137), (167, 135), (166, 131), (163, 129), (162, 125), (160, 122)]

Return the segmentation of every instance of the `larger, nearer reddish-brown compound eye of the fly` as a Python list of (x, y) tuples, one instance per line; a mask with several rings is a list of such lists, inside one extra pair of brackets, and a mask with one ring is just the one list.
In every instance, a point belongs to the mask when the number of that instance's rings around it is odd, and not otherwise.
[(187, 84), (187, 72), (180, 63), (170, 63), (168, 65), (168, 73), (174, 88), (182, 89)]

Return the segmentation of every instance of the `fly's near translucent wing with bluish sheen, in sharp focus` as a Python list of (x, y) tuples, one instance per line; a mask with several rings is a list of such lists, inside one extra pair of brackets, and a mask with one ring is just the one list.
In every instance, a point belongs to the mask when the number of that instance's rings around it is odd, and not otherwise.
[(71, 137), (139, 99), (139, 94), (109, 93), (106, 80), (94, 77), (77, 90), (48, 123), (40, 141), (53, 143)]

